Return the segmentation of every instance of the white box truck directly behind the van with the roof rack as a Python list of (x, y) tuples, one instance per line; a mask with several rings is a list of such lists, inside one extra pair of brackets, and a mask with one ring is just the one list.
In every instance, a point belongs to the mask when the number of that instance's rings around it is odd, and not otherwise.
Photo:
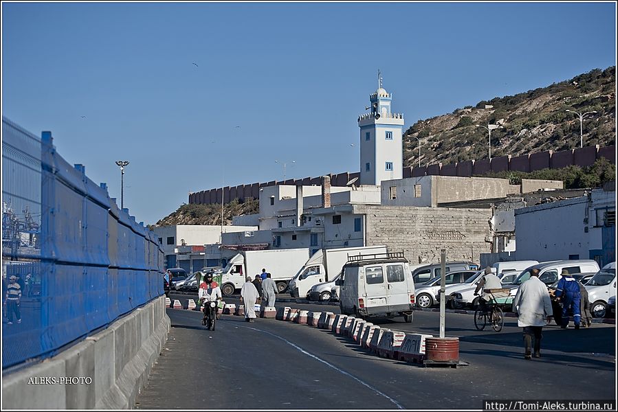
[(320, 249), (296, 273), (289, 282), (292, 297), (307, 297), (311, 288), (322, 282), (329, 282), (341, 272), (349, 256), (387, 253), (386, 246), (344, 247), (341, 249)]

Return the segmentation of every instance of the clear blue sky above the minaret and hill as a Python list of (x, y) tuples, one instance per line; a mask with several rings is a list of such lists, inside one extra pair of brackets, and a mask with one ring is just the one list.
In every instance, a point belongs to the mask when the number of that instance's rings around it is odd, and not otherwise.
[(112, 197), (131, 161), (124, 205), (154, 223), (190, 191), (281, 180), (283, 162), (287, 179), (358, 171), (378, 69), (405, 130), (615, 50), (613, 2), (3, 2), (2, 114), (51, 130)]

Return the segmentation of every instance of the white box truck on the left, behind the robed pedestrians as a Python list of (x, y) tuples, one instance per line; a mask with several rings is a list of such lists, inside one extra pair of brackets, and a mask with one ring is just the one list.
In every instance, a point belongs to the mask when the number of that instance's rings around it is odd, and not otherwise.
[(271, 279), (277, 284), (278, 292), (287, 288), (288, 281), (302, 262), (309, 258), (309, 248), (275, 249), (265, 251), (241, 251), (228, 261), (221, 273), (221, 293), (225, 296), (234, 294), (243, 287), (247, 276), (254, 279), (265, 268)]

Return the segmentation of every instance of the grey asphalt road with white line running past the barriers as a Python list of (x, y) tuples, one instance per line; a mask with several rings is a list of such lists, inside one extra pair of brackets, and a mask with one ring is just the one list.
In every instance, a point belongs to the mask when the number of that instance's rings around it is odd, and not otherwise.
[[(542, 358), (525, 361), (516, 319), (502, 332), (478, 332), (472, 316), (449, 313), (447, 336), (460, 337), (461, 361), (470, 363), (453, 369), (379, 358), (307, 325), (223, 315), (210, 332), (199, 312), (168, 315), (168, 342), (138, 409), (481, 409), (484, 399), (615, 399), (614, 325), (545, 328)], [(411, 324), (373, 323), (439, 334), (437, 312), (417, 312)]]

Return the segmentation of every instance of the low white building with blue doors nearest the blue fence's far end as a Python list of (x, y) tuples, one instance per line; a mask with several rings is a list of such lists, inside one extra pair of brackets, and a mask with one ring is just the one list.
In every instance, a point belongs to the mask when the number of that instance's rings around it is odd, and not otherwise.
[[(223, 233), (255, 231), (256, 226), (223, 226)], [(165, 255), (165, 268), (183, 268), (187, 273), (204, 266), (219, 266), (219, 257), (207, 258), (204, 245), (221, 241), (221, 226), (174, 225), (153, 229)]]

